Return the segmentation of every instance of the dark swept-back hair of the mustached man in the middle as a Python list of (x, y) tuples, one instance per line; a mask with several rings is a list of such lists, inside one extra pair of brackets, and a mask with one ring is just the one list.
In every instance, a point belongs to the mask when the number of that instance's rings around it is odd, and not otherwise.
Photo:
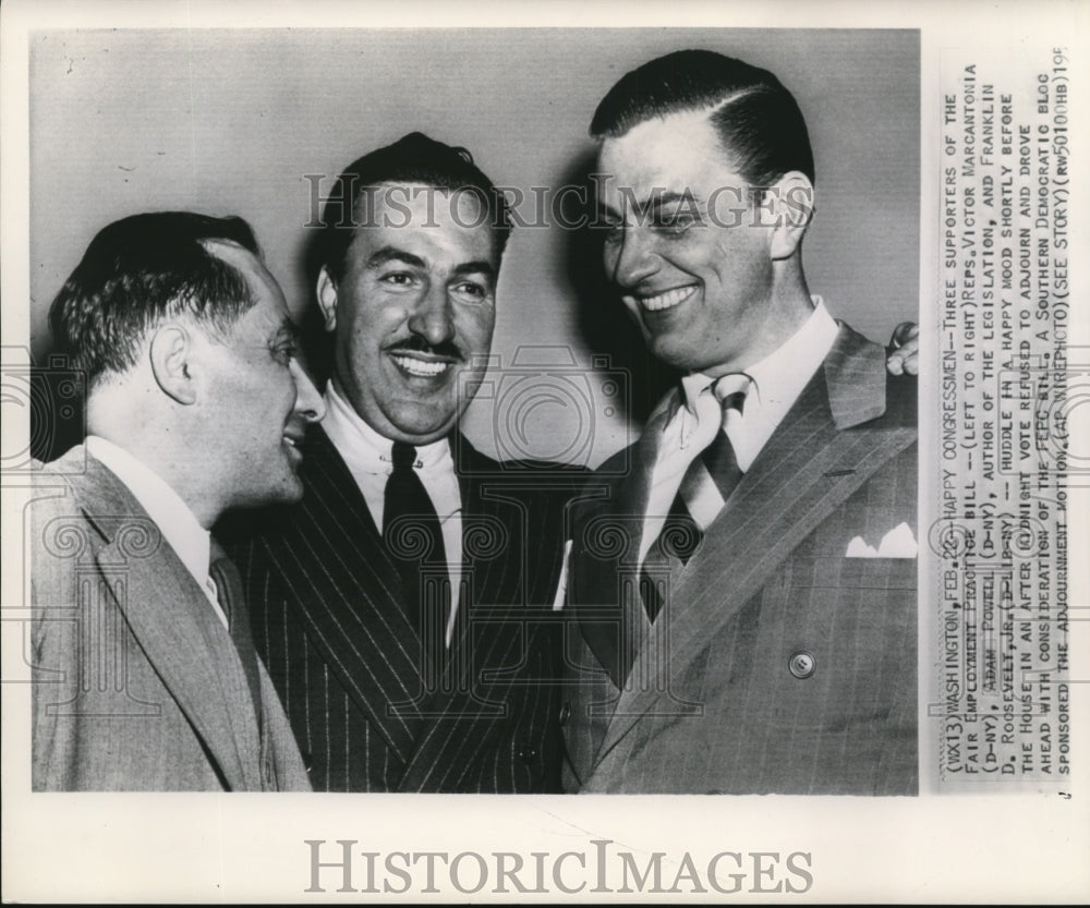
[(334, 183), (322, 214), (316, 265), (325, 265), (335, 281), (344, 276), (344, 259), (356, 228), (370, 222), (361, 197), (365, 190), (380, 183), (420, 183), (475, 195), (487, 215), (484, 222), (492, 226), (496, 257), (504, 255), (511, 220), (502, 193), (465, 148), (413, 132), (352, 161)]

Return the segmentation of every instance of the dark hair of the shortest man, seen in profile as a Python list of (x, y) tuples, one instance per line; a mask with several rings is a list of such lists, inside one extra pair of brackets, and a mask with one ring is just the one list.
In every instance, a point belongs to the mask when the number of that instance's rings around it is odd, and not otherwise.
[(89, 387), (136, 365), (141, 341), (167, 318), (189, 314), (228, 331), (255, 300), (245, 277), (205, 247), (216, 240), (261, 255), (239, 217), (154, 211), (104, 227), (50, 306), (57, 352), (86, 372)]

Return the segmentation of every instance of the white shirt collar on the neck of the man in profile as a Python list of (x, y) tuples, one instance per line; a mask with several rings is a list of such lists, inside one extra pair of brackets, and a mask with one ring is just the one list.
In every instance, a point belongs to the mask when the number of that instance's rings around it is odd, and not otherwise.
[(228, 627), (227, 616), (216, 595), (216, 584), (208, 576), (210, 536), (196, 514), (158, 473), (145, 467), (124, 448), (98, 435), (88, 435), (86, 444), (87, 452), (121, 480), (147, 511), (147, 516), (162, 533), (162, 541), (174, 550), (216, 610), (223, 627)]

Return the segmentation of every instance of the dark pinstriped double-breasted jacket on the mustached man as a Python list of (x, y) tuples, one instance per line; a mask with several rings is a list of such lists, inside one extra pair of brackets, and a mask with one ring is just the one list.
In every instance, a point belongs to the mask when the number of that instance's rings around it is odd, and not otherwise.
[(315, 790), (559, 790), (557, 628), (528, 605), (552, 603), (562, 496), (451, 441), (468, 584), (452, 690), (423, 689), (397, 571), (320, 427), (306, 443), (303, 500), (258, 513), (241, 540), (233, 528), (254, 641)]

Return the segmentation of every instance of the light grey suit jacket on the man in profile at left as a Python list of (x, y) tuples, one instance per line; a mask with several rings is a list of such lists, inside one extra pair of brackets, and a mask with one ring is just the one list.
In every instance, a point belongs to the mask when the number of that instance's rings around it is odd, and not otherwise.
[(34, 790), (310, 790), (264, 666), (258, 734), (204, 592), (128, 487), (84, 458), (41, 467), (31, 507)]

